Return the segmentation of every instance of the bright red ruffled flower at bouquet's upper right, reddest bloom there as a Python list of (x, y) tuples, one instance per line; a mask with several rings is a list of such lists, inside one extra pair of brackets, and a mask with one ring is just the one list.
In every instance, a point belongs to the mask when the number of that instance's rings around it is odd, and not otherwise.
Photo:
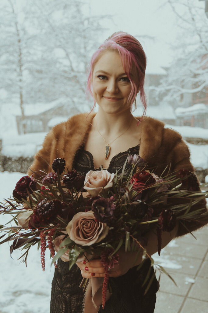
[(136, 173), (130, 180), (130, 184), (133, 184), (133, 189), (139, 192), (153, 185), (155, 182), (155, 178), (146, 171)]

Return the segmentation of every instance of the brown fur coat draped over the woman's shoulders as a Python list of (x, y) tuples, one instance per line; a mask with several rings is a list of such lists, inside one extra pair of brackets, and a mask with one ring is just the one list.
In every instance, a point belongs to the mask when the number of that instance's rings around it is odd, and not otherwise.
[[(34, 156), (35, 160), (28, 174), (36, 172), (34, 177), (37, 178), (38, 170), (51, 172), (49, 165), (57, 157), (65, 158), (66, 166), (71, 170), (75, 153), (85, 142), (94, 115), (90, 114), (87, 120), (86, 113), (75, 115), (68, 121), (54, 126), (45, 137), (42, 149)], [(179, 169), (194, 170), (189, 159), (188, 147), (181, 135), (172, 129), (164, 128), (164, 123), (151, 117), (146, 116), (141, 121), (139, 155), (148, 162), (149, 167), (155, 169), (157, 175), (161, 175), (167, 165), (170, 166), (171, 172)], [(201, 201), (201, 205), (197, 206), (205, 208), (203, 212), (206, 211), (205, 201)], [(193, 231), (203, 224), (187, 223), (187, 227)], [(186, 228), (180, 225), (177, 236), (187, 232)]]

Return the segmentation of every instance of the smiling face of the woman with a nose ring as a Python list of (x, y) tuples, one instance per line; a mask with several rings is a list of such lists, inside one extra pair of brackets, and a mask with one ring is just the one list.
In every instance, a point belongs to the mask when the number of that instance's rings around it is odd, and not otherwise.
[(92, 91), (94, 100), (106, 113), (117, 114), (130, 109), (127, 100), (131, 83), (118, 52), (105, 51), (95, 63)]

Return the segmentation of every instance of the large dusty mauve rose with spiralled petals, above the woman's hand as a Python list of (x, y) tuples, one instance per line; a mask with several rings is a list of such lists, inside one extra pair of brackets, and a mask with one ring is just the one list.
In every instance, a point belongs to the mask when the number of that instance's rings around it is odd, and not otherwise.
[(70, 239), (82, 246), (91, 246), (103, 240), (108, 230), (106, 223), (97, 221), (92, 211), (76, 213), (66, 226)]

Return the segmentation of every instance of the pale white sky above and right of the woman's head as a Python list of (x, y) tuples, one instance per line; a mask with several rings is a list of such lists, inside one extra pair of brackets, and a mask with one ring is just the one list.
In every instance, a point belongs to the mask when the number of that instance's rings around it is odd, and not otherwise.
[[(177, 17), (166, 0), (86, 0), (91, 6), (91, 15), (113, 15), (113, 22), (101, 21), (109, 28), (100, 42), (116, 31), (124, 31), (136, 36), (143, 45), (148, 59), (147, 73), (161, 72), (160, 66), (167, 66), (173, 57), (168, 43), (180, 36)], [(184, 0), (186, 2), (186, 0)], [(197, 6), (205, 6), (204, 1), (195, 0)], [(184, 8), (181, 8), (184, 10)], [(144, 39), (141, 36), (154, 37)], [(141, 38), (141, 39), (140, 39)]]

